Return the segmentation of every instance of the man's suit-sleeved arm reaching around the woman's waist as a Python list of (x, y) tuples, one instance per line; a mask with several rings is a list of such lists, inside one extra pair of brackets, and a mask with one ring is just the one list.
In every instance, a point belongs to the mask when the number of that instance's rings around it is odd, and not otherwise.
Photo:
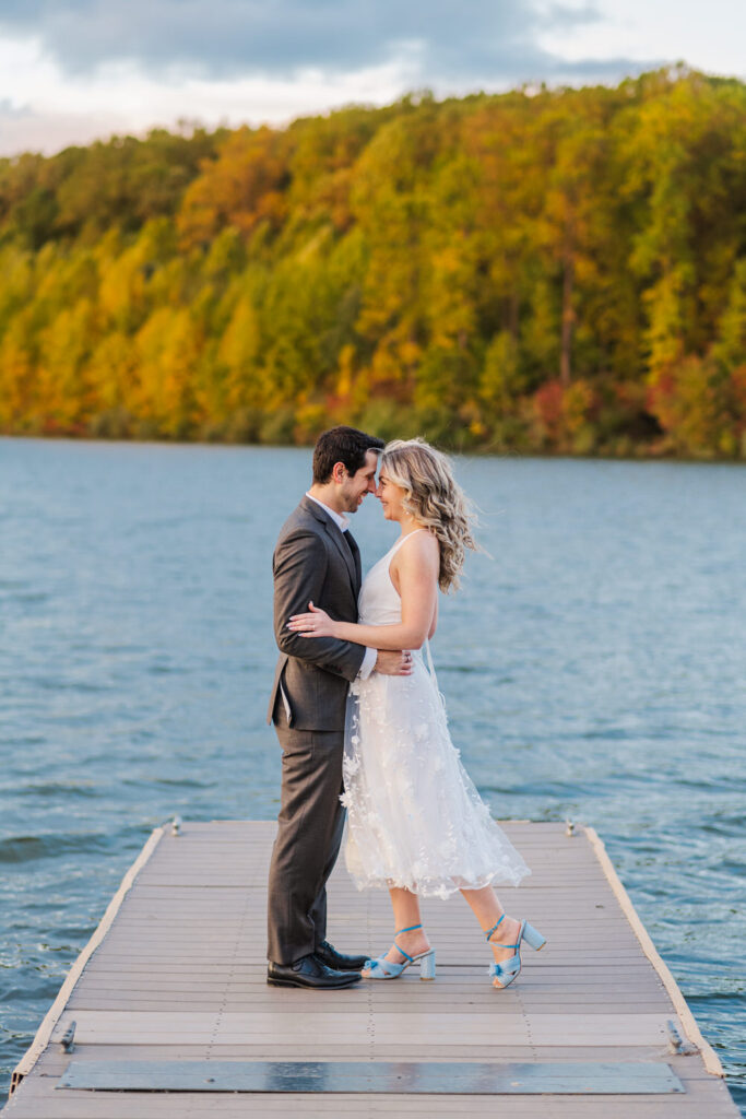
[(323, 540), (312, 532), (298, 530), (278, 545), (274, 558), (274, 631), (280, 650), (353, 680), (365, 658), (365, 647), (338, 638), (306, 641), (287, 629), (291, 614), (309, 609), (323, 590), (328, 566)]

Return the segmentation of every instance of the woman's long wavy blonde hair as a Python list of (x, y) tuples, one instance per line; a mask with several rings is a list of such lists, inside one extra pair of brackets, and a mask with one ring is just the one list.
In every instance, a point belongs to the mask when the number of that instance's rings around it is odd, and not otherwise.
[(472, 536), (473, 507), (453, 477), (451, 460), (423, 439), (395, 439), (380, 457), (380, 469), (406, 496), (403, 507), (437, 538), (441, 545), (438, 586), (456, 590), (466, 548), (476, 552)]

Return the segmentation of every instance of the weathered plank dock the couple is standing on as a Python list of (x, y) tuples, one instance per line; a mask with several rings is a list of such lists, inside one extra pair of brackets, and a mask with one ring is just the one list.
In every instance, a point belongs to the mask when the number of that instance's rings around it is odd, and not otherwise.
[[(456, 896), (423, 906), (435, 982), (412, 969), (328, 993), (265, 982), (274, 824), (157, 829), (18, 1065), (3, 1119), (737, 1119), (595, 833), (504, 828), (533, 873), (501, 897), (548, 938), (513, 986), (490, 986)], [(387, 895), (358, 893), (341, 861), (330, 894), (338, 948), (388, 946)], [(82, 1083), (98, 1087), (66, 1087)]]

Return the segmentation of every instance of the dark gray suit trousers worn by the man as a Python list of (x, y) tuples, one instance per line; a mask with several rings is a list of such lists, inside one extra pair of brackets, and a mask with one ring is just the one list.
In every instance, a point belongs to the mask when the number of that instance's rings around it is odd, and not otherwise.
[(282, 746), (277, 837), (270, 864), (268, 958), (290, 965), (327, 939), (327, 880), (344, 828), (343, 731), (287, 725), (277, 697), (274, 723)]

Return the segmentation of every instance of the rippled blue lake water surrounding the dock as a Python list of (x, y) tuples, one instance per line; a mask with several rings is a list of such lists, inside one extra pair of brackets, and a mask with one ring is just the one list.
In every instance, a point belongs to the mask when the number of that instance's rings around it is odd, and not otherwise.
[[(2, 1088), (151, 829), (271, 819), (271, 554), (310, 452), (0, 440)], [(593, 825), (746, 1113), (746, 468), (460, 459), (442, 600), (494, 815)], [(369, 566), (395, 529), (368, 499)]]

